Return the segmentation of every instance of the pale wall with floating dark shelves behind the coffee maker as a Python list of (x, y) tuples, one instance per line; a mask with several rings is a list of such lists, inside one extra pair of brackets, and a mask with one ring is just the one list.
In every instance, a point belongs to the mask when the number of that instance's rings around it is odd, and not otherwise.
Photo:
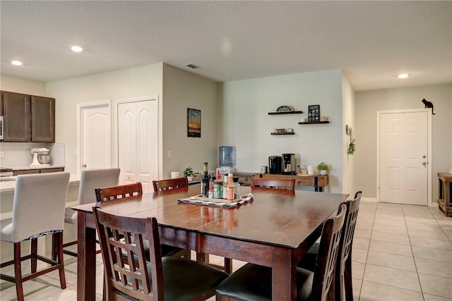
[[(325, 161), (331, 167), (331, 192), (342, 192), (342, 89), (340, 69), (225, 82), (218, 104), (218, 145), (237, 148), (238, 171), (258, 172), (268, 166), (268, 156), (283, 153), (296, 154), (301, 166)], [(331, 123), (299, 125), (309, 104), (320, 104), (321, 115), (330, 116)], [(282, 105), (305, 113), (268, 115)], [(270, 135), (274, 128), (293, 128), (295, 135)]]

